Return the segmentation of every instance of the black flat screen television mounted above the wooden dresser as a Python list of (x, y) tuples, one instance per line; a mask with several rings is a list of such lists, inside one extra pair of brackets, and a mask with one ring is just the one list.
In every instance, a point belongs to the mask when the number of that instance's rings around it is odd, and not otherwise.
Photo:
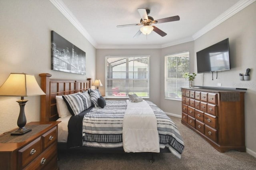
[(196, 52), (197, 73), (230, 69), (228, 38)]

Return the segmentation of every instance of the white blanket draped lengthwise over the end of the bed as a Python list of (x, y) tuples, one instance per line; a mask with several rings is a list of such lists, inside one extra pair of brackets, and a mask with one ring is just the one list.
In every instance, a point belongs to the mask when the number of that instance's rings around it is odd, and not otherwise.
[(160, 152), (157, 121), (146, 101), (127, 102), (123, 120), (125, 152)]

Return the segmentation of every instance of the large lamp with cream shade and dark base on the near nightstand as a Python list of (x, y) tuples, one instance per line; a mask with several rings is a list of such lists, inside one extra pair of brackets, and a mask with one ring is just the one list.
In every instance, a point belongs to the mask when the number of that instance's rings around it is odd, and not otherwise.
[(25, 127), (27, 121), (24, 108), (28, 100), (24, 100), (24, 97), (36, 95), (45, 95), (45, 93), (39, 87), (34, 75), (26, 73), (10, 73), (8, 79), (0, 87), (0, 96), (21, 97), (17, 101), (20, 105), (17, 125), (20, 128), (12, 132), (11, 135), (23, 135), (31, 131), (31, 129)]

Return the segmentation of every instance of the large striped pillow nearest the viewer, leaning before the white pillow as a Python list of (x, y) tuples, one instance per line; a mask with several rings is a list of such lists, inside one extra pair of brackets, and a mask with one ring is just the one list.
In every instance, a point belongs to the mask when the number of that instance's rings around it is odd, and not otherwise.
[(88, 109), (92, 105), (88, 93), (62, 95), (62, 98), (66, 102), (68, 110), (74, 116), (78, 115), (85, 109)]

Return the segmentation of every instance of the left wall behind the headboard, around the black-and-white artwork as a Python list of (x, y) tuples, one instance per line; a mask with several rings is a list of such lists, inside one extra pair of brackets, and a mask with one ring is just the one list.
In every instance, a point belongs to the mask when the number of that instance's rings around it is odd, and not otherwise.
[[(0, 85), (10, 73), (95, 79), (96, 49), (48, 0), (0, 1)], [(51, 30), (86, 52), (86, 75), (51, 70)], [(0, 133), (17, 127), (19, 97), (0, 97)], [(27, 122), (40, 121), (40, 96), (25, 97)]]

